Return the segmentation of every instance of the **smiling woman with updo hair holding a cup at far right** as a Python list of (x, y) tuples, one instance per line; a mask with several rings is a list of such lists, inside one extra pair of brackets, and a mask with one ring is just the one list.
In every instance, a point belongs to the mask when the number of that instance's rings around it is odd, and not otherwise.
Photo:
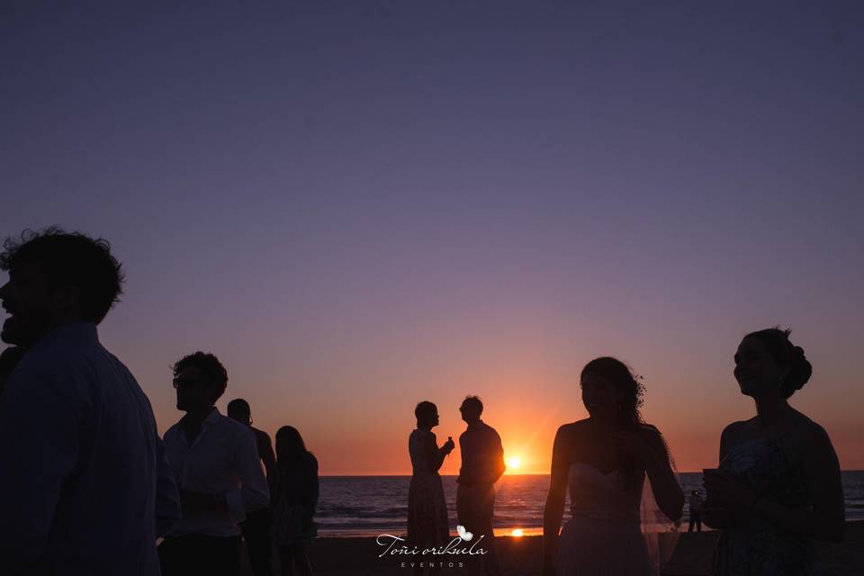
[(813, 373), (789, 332), (752, 332), (735, 352), (735, 380), (755, 401), (756, 416), (725, 428), (719, 468), (705, 471), (702, 521), (723, 530), (715, 576), (817, 573), (812, 540), (842, 540), (843, 490), (831, 439), (788, 403)]

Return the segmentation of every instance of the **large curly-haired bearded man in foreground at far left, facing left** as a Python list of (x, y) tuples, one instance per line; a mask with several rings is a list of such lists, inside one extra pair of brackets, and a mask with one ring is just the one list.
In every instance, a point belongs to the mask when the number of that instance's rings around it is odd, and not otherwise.
[(147, 396), (96, 330), (121, 265), (52, 228), (7, 239), (0, 268), (0, 336), (27, 348), (0, 402), (0, 571), (156, 576), (177, 491)]

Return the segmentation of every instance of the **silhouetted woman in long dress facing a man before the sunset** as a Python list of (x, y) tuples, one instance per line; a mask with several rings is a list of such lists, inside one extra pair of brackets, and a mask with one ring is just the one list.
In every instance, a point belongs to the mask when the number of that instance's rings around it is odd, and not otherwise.
[[(414, 409), (417, 428), (408, 438), (411, 457), (411, 482), (408, 488), (408, 544), (420, 550), (446, 546), (450, 541), (447, 505), (444, 500), (444, 484), (438, 470), (444, 459), (453, 452), (453, 438), (447, 438), (438, 447), (432, 428), (438, 425), (438, 409), (429, 401), (419, 402)], [(435, 556), (420, 556), (414, 566), (415, 574), (422, 574), (421, 563), (435, 563)], [(430, 566), (429, 572), (437, 574), (440, 566)]]

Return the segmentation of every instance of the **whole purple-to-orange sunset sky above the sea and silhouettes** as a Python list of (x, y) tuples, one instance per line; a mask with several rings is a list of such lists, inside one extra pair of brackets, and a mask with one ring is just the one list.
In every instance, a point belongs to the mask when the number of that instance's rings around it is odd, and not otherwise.
[(0, 9), (0, 236), (112, 242), (103, 344), (160, 431), (202, 349), (321, 473), (410, 473), (414, 405), (444, 442), (465, 394), (545, 473), (610, 355), (698, 470), (781, 324), (864, 468), (862, 4), (32, 4)]

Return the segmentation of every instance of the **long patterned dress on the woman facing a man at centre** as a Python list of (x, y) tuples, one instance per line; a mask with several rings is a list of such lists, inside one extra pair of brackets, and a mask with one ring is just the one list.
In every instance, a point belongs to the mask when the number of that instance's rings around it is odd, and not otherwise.
[(411, 483), (408, 489), (408, 542), (420, 549), (444, 546), (449, 541), (444, 485), (430, 455), (438, 451), (431, 430), (416, 429), (408, 440)]

